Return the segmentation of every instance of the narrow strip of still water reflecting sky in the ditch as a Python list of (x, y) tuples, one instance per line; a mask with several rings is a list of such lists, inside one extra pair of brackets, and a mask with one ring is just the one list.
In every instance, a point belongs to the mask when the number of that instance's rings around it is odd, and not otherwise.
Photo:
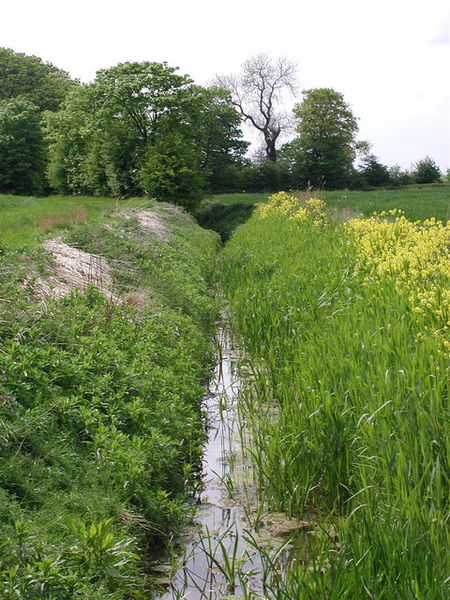
[(241, 595), (243, 585), (256, 593), (263, 588), (260, 555), (244, 539), (249, 531), (244, 507), (230, 499), (233, 463), (241, 450), (236, 407), (241, 380), (238, 356), (223, 329), (219, 343), (206, 398), (208, 441), (197, 525), (184, 540), (181, 565), (161, 600), (218, 600)]

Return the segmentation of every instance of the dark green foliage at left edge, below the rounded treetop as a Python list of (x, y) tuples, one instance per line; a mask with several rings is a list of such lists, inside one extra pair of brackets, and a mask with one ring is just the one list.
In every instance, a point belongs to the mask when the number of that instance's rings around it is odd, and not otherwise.
[(36, 106), (19, 99), (0, 101), (0, 192), (42, 193), (45, 161)]

